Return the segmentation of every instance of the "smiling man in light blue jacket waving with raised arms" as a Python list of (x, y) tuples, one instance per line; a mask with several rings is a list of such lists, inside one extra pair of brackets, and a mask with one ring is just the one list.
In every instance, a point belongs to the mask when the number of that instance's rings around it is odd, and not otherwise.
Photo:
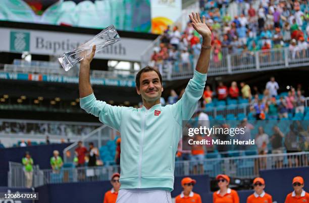
[(174, 105), (162, 107), (160, 72), (151, 67), (136, 75), (136, 90), (143, 107), (115, 107), (96, 100), (90, 80), (92, 53), (80, 64), (80, 106), (87, 113), (121, 132), (121, 188), (117, 203), (171, 203), (174, 185), (175, 154), (182, 134), (182, 121), (193, 115), (207, 79), (211, 52), (211, 30), (205, 17), (189, 15), (194, 29), (203, 37), (202, 49), (193, 78), (182, 98)]

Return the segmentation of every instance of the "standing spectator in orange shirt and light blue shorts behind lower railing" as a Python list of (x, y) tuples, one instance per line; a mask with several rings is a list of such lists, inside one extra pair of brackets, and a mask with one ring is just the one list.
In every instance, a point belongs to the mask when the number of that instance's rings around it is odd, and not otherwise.
[[(194, 141), (201, 141), (203, 139), (200, 135), (194, 135)], [(191, 161), (193, 162), (193, 174), (202, 174), (204, 172), (204, 146), (202, 144), (193, 144), (191, 146)]]

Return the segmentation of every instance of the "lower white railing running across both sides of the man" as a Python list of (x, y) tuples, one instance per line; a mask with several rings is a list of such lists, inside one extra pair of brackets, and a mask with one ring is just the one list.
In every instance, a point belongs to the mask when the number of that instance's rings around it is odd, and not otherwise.
[[(235, 153), (239, 152), (235, 151)], [(198, 162), (176, 161), (174, 175), (189, 176), (206, 174), (210, 177), (216, 177), (218, 174), (226, 174), (233, 178), (254, 178), (259, 176), (259, 171), (262, 169), (307, 167), (308, 163), (309, 151), (204, 159), (202, 161), (202, 171), (200, 171)], [(194, 166), (198, 166), (196, 170)], [(71, 168), (63, 168), (58, 172), (52, 169), (39, 170), (38, 167), (35, 167), (33, 171), (33, 186), (37, 187), (48, 183), (104, 181), (109, 180), (113, 173), (119, 171), (119, 165), (79, 168), (72, 166)], [(9, 187), (25, 186), (26, 180), (21, 164), (10, 162), (8, 181)]]

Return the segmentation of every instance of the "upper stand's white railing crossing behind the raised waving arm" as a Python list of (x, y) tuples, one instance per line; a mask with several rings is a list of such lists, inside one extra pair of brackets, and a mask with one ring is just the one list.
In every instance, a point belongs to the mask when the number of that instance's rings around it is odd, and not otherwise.
[[(187, 79), (193, 76), (196, 59), (191, 63), (164, 61), (163, 70), (167, 69), (166, 80)], [(219, 62), (211, 60), (209, 76), (228, 75), (264, 70), (285, 69), (309, 66), (309, 49), (300, 50), (299, 54), (290, 52), (288, 48), (260, 50), (247, 54), (232, 54)]]

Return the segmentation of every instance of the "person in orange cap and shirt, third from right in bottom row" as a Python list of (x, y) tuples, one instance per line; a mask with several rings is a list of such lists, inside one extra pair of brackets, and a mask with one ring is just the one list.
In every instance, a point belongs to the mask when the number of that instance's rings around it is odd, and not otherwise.
[(239, 203), (238, 193), (229, 188), (230, 177), (224, 174), (219, 174), (216, 177), (219, 190), (213, 194), (214, 203)]

